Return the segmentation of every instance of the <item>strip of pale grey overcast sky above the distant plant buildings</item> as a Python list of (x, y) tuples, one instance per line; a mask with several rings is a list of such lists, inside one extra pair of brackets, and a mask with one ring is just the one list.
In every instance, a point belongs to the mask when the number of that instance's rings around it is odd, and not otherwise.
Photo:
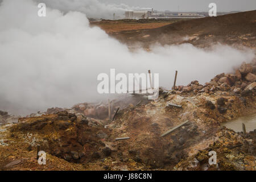
[[(85, 0), (86, 1), (86, 0)], [(256, 9), (256, 0), (99, 0), (100, 2), (129, 6), (152, 7), (156, 10), (209, 11), (211, 2), (217, 4), (217, 11), (249, 11)]]

